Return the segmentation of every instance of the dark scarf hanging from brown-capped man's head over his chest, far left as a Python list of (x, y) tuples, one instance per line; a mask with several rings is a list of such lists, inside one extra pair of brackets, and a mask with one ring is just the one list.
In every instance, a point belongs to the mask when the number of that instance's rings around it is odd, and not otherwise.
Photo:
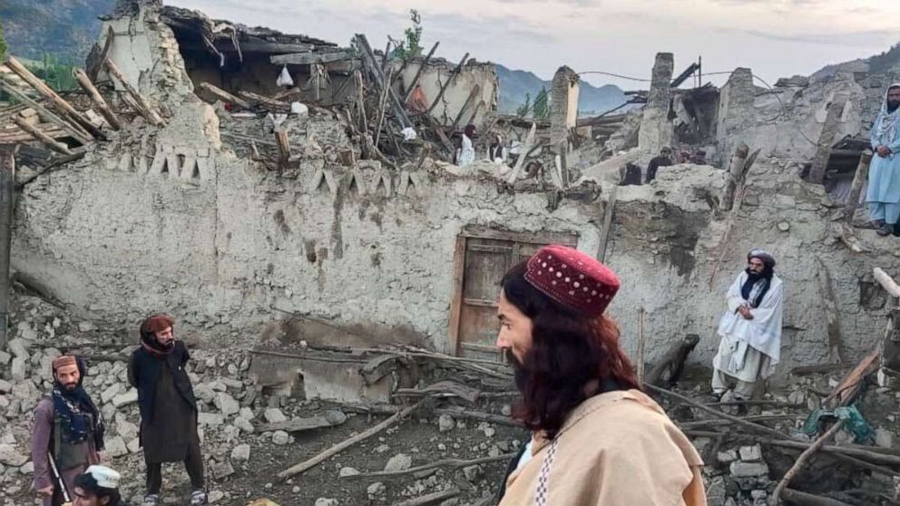
[(103, 450), (103, 414), (93, 404), (91, 396), (84, 391), (84, 376), (87, 374), (87, 366), (81, 357), (75, 359), (78, 365), (78, 385), (73, 390), (67, 390), (64, 384), (56, 379), (54, 370), (54, 413), (63, 422), (63, 443), (83, 443), (89, 437), (93, 437), (94, 447), (99, 452)]

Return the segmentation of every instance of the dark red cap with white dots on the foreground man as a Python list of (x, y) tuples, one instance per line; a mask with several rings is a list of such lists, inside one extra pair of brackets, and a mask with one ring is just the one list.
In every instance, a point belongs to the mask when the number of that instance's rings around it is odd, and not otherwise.
[(588, 316), (601, 316), (620, 286), (610, 268), (560, 244), (545, 246), (528, 259), (525, 280), (547, 297)]

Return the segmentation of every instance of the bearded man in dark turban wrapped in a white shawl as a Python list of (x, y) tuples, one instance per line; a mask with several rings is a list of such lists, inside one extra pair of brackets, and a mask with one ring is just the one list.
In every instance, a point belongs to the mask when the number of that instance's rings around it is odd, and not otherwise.
[(775, 371), (781, 352), (784, 287), (775, 258), (762, 249), (747, 255), (748, 267), (729, 288), (728, 310), (719, 321), (719, 353), (712, 359), (712, 394), (721, 399), (734, 382), (734, 398), (749, 399), (758, 378)]

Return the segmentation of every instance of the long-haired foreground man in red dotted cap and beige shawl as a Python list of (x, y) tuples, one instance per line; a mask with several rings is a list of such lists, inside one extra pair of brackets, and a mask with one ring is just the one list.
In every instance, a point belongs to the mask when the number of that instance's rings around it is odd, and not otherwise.
[(615, 274), (572, 248), (548, 246), (506, 273), (497, 347), (522, 393), (514, 417), (532, 431), (511, 462), (501, 506), (703, 506), (703, 462), (641, 392), (604, 315)]

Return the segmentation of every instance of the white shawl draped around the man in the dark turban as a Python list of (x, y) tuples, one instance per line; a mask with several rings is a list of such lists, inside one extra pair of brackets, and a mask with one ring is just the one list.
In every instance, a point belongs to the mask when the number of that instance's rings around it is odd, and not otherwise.
[[(729, 310), (722, 315), (722, 319), (719, 321), (719, 336), (739, 342), (736, 350), (738, 353), (732, 356), (732, 361), (737, 361), (732, 366), (737, 369), (743, 366), (743, 357), (746, 354), (747, 346), (758, 350), (764, 355), (768, 355), (769, 370), (762, 372), (762, 375), (765, 377), (771, 374), (771, 370), (778, 364), (781, 356), (784, 286), (781, 283), (781, 279), (773, 275), (766, 297), (763, 297), (759, 307), (750, 309), (753, 319), (748, 320), (738, 313), (738, 307), (749, 305), (747, 299), (740, 294), (740, 288), (743, 287), (747, 276), (746, 271), (741, 272), (729, 288), (727, 296)], [(757, 296), (761, 285), (758, 282), (753, 287), (750, 293), (751, 299)]]

